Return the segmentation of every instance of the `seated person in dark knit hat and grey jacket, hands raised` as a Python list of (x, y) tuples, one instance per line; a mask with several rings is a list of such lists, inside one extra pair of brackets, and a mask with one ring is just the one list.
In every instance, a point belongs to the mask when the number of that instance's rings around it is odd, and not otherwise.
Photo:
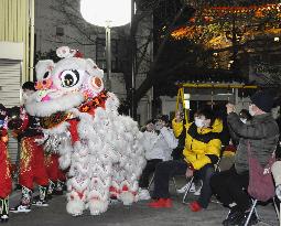
[[(267, 164), (278, 143), (279, 128), (270, 112), (273, 97), (268, 92), (257, 92), (250, 99), (249, 112), (252, 119), (249, 123), (244, 123), (235, 114), (235, 106), (227, 104), (229, 130), (238, 137), (239, 146), (231, 169), (210, 179), (213, 192), (225, 206), (230, 208), (227, 219), (223, 222), (224, 225), (244, 225), (249, 214), (251, 200), (245, 192), (249, 183), (248, 142), (252, 154), (262, 166)], [(253, 214), (250, 224), (256, 223), (257, 216)]]

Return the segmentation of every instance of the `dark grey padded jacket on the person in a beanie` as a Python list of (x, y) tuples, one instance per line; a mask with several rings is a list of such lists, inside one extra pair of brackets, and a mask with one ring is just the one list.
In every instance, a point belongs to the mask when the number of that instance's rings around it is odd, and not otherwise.
[(235, 155), (235, 169), (238, 173), (248, 171), (247, 144), (250, 142), (251, 152), (264, 166), (278, 144), (279, 128), (271, 114), (255, 116), (249, 123), (240, 121), (237, 114), (227, 117), (233, 138), (239, 139)]

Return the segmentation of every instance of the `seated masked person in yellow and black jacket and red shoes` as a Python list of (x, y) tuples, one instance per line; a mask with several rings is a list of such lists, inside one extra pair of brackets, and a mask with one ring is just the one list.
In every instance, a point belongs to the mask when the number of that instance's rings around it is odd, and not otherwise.
[(167, 161), (160, 163), (155, 170), (153, 201), (150, 207), (171, 207), (172, 200), (169, 194), (169, 179), (174, 175), (186, 175), (203, 181), (203, 187), (197, 201), (190, 204), (193, 212), (207, 208), (212, 196), (209, 180), (214, 174), (214, 164), (217, 163), (221, 141), (223, 122), (216, 119), (213, 110), (205, 108), (197, 112), (194, 122), (183, 125), (180, 114), (172, 121), (175, 137), (179, 137), (183, 128), (186, 128), (185, 147), (183, 155), (185, 161)]

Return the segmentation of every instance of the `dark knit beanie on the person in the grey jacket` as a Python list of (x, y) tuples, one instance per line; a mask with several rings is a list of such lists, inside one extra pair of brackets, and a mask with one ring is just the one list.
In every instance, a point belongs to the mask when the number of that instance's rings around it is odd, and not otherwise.
[(253, 105), (256, 105), (259, 109), (261, 109), (264, 112), (270, 112), (274, 104), (273, 96), (266, 90), (257, 92), (250, 97), (250, 99)]

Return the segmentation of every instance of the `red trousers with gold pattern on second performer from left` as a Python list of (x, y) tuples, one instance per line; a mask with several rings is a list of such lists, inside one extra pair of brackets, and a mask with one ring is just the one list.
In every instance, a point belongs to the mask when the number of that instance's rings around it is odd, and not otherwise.
[(47, 186), (48, 176), (44, 165), (44, 151), (35, 141), (41, 136), (24, 137), (21, 140), (19, 183), (33, 190), (33, 182)]

